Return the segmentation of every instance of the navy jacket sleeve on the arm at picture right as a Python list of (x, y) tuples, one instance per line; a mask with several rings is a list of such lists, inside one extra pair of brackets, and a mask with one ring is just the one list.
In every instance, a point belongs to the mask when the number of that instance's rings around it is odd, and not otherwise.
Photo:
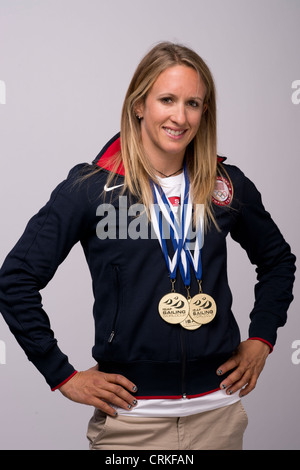
[(260, 339), (272, 350), (277, 329), (286, 323), (287, 310), (293, 300), (296, 258), (265, 210), (255, 185), (241, 174), (237, 187), (240, 212), (231, 236), (256, 265), (258, 281), (250, 313), (249, 339)]

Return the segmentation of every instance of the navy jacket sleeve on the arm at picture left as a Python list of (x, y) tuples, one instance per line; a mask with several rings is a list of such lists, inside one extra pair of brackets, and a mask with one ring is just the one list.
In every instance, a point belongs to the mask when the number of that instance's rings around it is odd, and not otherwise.
[(60, 350), (40, 290), (83, 236), (86, 220), (74, 189), (73, 169), (28, 222), (0, 271), (0, 311), (28, 359), (54, 389), (74, 373)]

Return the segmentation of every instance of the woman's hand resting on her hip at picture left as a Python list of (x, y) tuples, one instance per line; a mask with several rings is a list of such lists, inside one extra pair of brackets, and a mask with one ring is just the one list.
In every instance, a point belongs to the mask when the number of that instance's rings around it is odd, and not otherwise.
[(110, 416), (116, 415), (113, 406), (130, 410), (137, 403), (132, 395), (137, 390), (134, 383), (122, 375), (101, 372), (98, 366), (77, 372), (59, 390), (70, 400), (94, 406)]

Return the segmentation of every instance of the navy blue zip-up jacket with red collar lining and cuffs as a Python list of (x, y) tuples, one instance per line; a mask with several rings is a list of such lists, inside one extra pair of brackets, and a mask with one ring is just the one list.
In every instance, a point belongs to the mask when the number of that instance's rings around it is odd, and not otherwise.
[[(258, 282), (249, 338), (259, 338), (271, 349), (292, 301), (295, 257), (264, 209), (254, 184), (237, 167), (219, 159), (231, 180), (228, 194), (233, 197), (230, 205), (216, 198), (214, 213), (220, 231), (211, 225), (201, 253), (203, 291), (215, 299), (217, 315), (194, 331), (164, 322), (157, 307), (161, 297), (170, 292), (167, 267), (157, 239), (134, 239), (127, 234), (130, 223), (137, 224), (139, 219), (135, 214), (128, 215), (136, 201), (126, 193), (119, 199), (124, 182), (122, 167), (112, 183), (116, 188), (104, 190), (110, 155), (118, 146), (119, 135), (94, 162), (103, 171), (86, 180), (82, 179), (86, 164), (75, 166), (29, 221), (1, 269), (1, 313), (51, 389), (76, 373), (57, 345), (40, 290), (80, 242), (93, 283), (93, 357), (99, 370), (126, 376), (137, 385), (140, 398), (193, 397), (217, 390), (220, 379), (216, 369), (240, 343), (231, 310), (226, 236), (230, 234), (256, 265)], [(108, 220), (104, 203), (113, 206), (110, 215), (116, 223), (107, 238), (103, 235)], [(176, 290), (186, 295), (179, 275)], [(197, 292), (198, 284), (192, 275), (190, 293)]]

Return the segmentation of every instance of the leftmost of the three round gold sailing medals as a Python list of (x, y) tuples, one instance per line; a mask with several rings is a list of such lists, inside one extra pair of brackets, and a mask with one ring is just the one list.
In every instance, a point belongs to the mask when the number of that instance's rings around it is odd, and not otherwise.
[(189, 314), (189, 303), (182, 294), (170, 292), (162, 297), (158, 312), (163, 320), (172, 325), (183, 322)]

